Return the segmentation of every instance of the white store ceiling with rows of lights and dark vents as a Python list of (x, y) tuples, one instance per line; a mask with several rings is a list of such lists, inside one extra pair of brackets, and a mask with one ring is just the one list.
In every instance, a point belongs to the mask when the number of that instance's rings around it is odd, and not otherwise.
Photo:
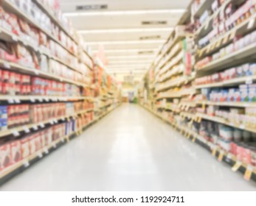
[[(104, 48), (109, 73), (120, 76), (132, 71), (141, 76), (189, 2), (60, 0), (60, 7), (95, 54)], [(83, 10), (77, 11), (77, 6)]]

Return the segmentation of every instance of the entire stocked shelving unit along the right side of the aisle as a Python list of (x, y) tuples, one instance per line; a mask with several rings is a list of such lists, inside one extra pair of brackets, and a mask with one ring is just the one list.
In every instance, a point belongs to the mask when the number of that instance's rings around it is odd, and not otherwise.
[[(242, 13), (246, 6), (255, 10), (256, 4), (226, 0), (215, 7), (212, 3), (213, 0), (191, 2), (189, 12), (177, 25), (183, 25), (186, 34), (178, 41), (172, 38), (176, 29), (170, 34), (145, 74), (139, 88), (139, 104), (212, 152), (220, 162), (228, 163), (232, 171), (241, 171), (246, 180), (256, 180), (256, 127), (252, 120), (256, 118), (256, 51), (252, 41), (256, 15), (247, 13), (246, 18), (236, 21), (234, 18), (239, 15), (233, 15), (238, 10)], [(201, 18), (207, 11), (208, 17)], [(225, 27), (233, 21), (232, 26)], [(220, 24), (224, 24), (223, 30)], [(179, 41), (186, 43), (182, 66), (165, 67), (176, 59), (179, 50), (169, 52)], [(191, 55), (190, 62), (185, 61), (187, 54)], [(231, 132), (225, 136), (224, 131)]]

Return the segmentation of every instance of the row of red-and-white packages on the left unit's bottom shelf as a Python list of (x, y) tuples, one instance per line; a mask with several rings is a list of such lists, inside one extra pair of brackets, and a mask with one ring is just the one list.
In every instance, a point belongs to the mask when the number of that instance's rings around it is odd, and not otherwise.
[(72, 118), (65, 123), (31, 132), (15, 140), (0, 141), (0, 175), (5, 168), (26, 160), (36, 152), (40, 152), (41, 149), (46, 149), (52, 142), (71, 135), (77, 129), (83, 129), (92, 120), (91, 117), (89, 114)]

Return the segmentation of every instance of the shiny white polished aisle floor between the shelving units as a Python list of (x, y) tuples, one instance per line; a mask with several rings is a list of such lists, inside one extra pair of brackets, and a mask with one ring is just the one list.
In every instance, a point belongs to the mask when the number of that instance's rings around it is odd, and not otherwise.
[(1, 191), (256, 191), (142, 107), (123, 104)]

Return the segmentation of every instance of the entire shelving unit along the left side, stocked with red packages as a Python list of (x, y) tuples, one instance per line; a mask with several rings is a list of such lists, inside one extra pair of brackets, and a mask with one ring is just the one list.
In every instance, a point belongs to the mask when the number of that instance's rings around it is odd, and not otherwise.
[[(6, 88), (5, 91), (1, 88), (0, 96), (0, 150), (6, 155), (1, 158), (6, 158), (7, 162), (0, 163), (0, 185), (68, 143), (120, 105), (117, 83), (114, 79), (108, 81), (110, 86), (98, 83), (102, 77), (97, 77), (97, 60), (89, 54), (83, 38), (75, 29), (61, 23), (54, 9), (46, 7), (43, 1), (32, 0), (30, 3), (34, 4), (35, 13), (43, 13), (58, 27), (58, 34), (47, 29), (46, 24), (42, 25), (30, 11), (21, 9), (21, 5), (16, 3), (3, 0), (0, 5), (2, 13), (17, 18), (15, 26), (4, 18), (0, 24), (0, 40), (12, 48), (7, 51), (0, 47), (1, 71), (8, 76), (1, 78), (4, 81), (1, 84)], [(23, 31), (18, 21), (27, 25), (27, 29), (34, 29), (35, 36)], [(45, 35), (49, 42), (39, 42), (39, 35), (42, 39)], [(19, 47), (30, 51), (26, 57), (19, 53)], [(45, 62), (42, 56), (46, 57)], [(49, 60), (53, 60), (52, 65)], [(27, 82), (22, 79), (25, 77)], [(25, 87), (26, 92), (21, 93)], [(104, 90), (104, 93), (99, 93), (99, 90)], [(108, 93), (111, 96), (106, 95)], [(102, 97), (105, 103), (98, 110), (96, 100)], [(24, 105), (28, 111), (22, 111), (20, 107)], [(53, 112), (52, 107), (60, 110), (61, 115)], [(26, 121), (21, 121), (24, 115)], [(11, 119), (19, 121), (14, 124)], [(41, 119), (44, 121), (38, 121)], [(17, 151), (17, 159), (13, 159), (13, 151)]]

